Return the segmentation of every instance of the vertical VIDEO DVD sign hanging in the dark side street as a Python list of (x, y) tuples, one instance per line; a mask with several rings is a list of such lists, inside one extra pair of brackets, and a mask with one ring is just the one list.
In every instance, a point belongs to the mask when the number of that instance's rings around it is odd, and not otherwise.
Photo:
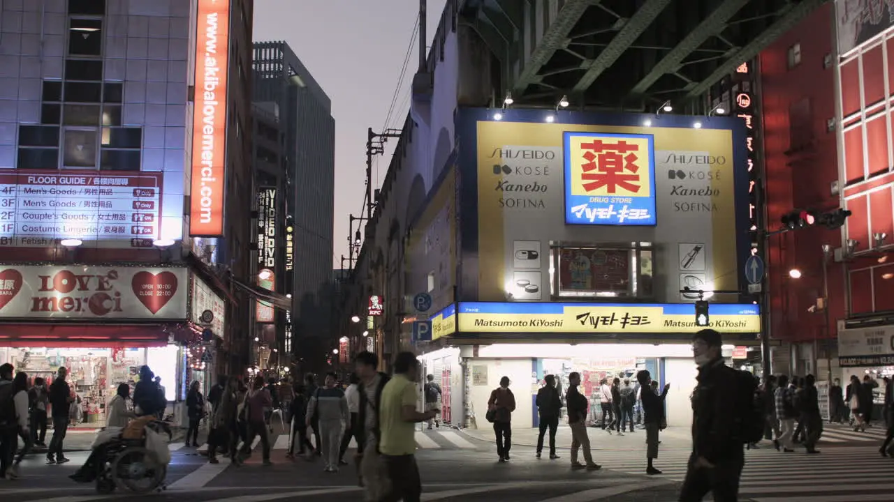
[[(257, 285), (276, 290), (276, 188), (257, 191)], [(258, 300), (257, 322), (275, 322), (274, 305)]]

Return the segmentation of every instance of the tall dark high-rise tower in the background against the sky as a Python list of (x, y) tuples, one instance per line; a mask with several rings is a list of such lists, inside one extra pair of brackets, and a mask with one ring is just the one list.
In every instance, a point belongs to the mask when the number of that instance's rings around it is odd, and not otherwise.
[[(283, 131), (284, 219), (295, 243), (290, 256), (291, 336), (332, 332), (335, 121), (332, 102), (284, 42), (254, 44), (254, 100), (274, 104)], [(285, 319), (277, 336), (285, 339)], [(297, 341), (291, 350), (298, 349)]]

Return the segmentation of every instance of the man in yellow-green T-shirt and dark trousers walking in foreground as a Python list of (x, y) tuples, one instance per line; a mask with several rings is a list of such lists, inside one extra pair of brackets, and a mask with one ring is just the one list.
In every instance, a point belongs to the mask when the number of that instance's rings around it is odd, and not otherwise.
[(379, 405), (379, 452), (388, 466), (392, 492), (383, 502), (419, 502), (422, 481), (416, 464), (416, 427), (437, 416), (440, 410), (417, 412), (419, 362), (411, 352), (394, 360), (394, 377), (382, 389)]

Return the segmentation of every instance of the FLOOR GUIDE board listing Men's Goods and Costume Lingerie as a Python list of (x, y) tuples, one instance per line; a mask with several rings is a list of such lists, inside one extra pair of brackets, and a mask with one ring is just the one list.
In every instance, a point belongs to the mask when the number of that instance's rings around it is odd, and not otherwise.
[(161, 216), (160, 172), (0, 171), (0, 247), (152, 247)]

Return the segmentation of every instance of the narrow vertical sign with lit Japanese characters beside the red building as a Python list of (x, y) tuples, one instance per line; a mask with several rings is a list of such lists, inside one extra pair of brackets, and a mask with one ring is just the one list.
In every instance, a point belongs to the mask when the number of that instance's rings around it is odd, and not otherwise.
[(758, 97), (756, 88), (755, 65), (752, 62), (740, 64), (736, 68), (733, 81), (738, 82), (730, 89), (730, 101), (732, 111), (738, 118), (745, 121), (746, 149), (748, 169), (748, 236), (751, 243), (751, 254), (759, 253), (760, 238), (758, 229), (763, 221), (760, 191), (761, 169), (760, 162), (760, 115), (758, 111)]

